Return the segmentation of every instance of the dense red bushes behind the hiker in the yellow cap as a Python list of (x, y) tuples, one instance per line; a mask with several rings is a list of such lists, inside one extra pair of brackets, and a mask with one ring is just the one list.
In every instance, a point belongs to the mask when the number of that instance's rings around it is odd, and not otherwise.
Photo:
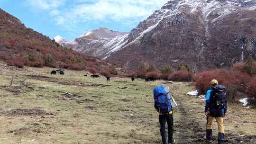
[(236, 63), (230, 69), (215, 69), (197, 73), (194, 76), (195, 87), (205, 93), (211, 87), (210, 81), (216, 79), (226, 87), (230, 102), (237, 96), (247, 95), (256, 99), (256, 62), (248, 57), (244, 63)]

